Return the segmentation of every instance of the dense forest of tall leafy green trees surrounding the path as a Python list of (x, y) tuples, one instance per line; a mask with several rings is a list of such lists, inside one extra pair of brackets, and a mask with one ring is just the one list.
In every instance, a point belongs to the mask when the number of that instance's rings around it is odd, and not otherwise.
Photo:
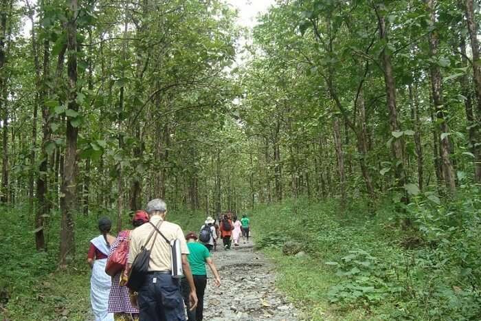
[[(418, 316), (476, 320), (480, 6), (278, 0), (245, 30), (222, 0), (0, 0), (2, 208), (23, 212), (24, 246), (60, 267), (76, 260), (86, 217), (109, 213), (120, 230), (153, 197), (201, 217), (260, 209), (266, 224), (280, 204), (314, 221), (375, 217), (379, 233), (426, 251), (417, 267), (449, 275)], [(377, 272), (351, 278), (353, 258), (344, 276), (362, 289), (331, 289), (333, 302), (432, 298), (434, 283), (418, 293), (413, 278), (427, 276), (411, 272), (381, 295), (361, 278)], [(442, 302), (452, 309), (427, 311)]]

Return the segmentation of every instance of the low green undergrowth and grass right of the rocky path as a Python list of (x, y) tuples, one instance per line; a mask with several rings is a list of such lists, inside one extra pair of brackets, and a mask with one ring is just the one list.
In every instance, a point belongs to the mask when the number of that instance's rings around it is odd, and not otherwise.
[[(253, 228), (278, 285), (312, 320), (480, 320), (480, 210), (478, 190), (377, 209), (350, 201), (344, 212), (289, 199), (256, 209)], [(309, 257), (282, 255), (286, 241)]]

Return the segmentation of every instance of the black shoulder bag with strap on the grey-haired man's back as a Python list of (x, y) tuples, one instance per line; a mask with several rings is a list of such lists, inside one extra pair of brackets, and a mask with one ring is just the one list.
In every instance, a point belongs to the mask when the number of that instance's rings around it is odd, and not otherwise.
[[(160, 223), (159, 227), (160, 225), (162, 225), (162, 222), (164, 221), (159, 222)], [(151, 222), (148, 222), (148, 223), (153, 225)], [(148, 264), (150, 263), (150, 252), (152, 251), (152, 248), (155, 244), (155, 239), (157, 239), (157, 233), (155, 233), (154, 241), (152, 245), (150, 245), (150, 249), (147, 250), (148, 242), (150, 241), (150, 238), (152, 238), (152, 234), (154, 234), (155, 230), (157, 230), (157, 226), (153, 225), (153, 227), (154, 227), (154, 230), (150, 232), (145, 245), (143, 245), (140, 248), (139, 254), (135, 256), (135, 259), (132, 263), (131, 270), (128, 273), (128, 280), (127, 280), (126, 286), (135, 292), (138, 292), (139, 289), (142, 287), (142, 285), (144, 285), (144, 282), (148, 273)]]

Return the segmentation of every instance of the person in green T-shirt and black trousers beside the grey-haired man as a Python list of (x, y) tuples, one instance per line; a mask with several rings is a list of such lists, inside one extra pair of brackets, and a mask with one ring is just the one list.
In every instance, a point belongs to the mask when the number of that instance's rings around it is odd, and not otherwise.
[[(212, 220), (213, 221), (213, 220)], [(197, 307), (190, 310), (189, 292), (190, 287), (188, 282), (182, 280), (182, 293), (183, 298), (188, 307), (187, 316), (188, 321), (202, 321), (203, 320), (203, 305), (204, 305), (204, 293), (207, 286), (207, 270), (205, 269), (205, 263), (207, 263), (214, 274), (214, 284), (216, 287), (221, 286), (221, 277), (217, 272), (216, 266), (210, 257), (210, 252), (203, 244), (197, 242), (197, 235), (194, 232), (189, 232), (186, 235), (187, 247), (190, 254), (188, 255), (190, 268), (192, 269), (192, 276), (194, 278), (195, 289), (197, 293)]]

